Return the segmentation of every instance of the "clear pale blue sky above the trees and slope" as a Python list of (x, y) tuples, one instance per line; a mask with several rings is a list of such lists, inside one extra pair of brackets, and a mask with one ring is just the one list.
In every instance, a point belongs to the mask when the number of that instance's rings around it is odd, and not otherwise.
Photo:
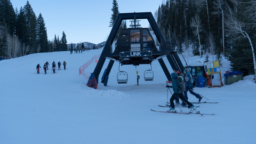
[[(120, 13), (151, 12), (153, 15), (162, 0), (117, 0)], [(24, 7), (27, 0), (11, 0), (14, 10)], [(62, 37), (64, 31), (68, 43), (91, 42), (94, 44), (106, 41), (110, 33), (109, 21), (113, 0), (29, 0), (36, 16), (42, 14), (47, 29), (48, 39), (54, 35)], [(130, 21), (126, 21), (127, 27)], [(142, 27), (148, 27), (147, 20), (141, 21)]]

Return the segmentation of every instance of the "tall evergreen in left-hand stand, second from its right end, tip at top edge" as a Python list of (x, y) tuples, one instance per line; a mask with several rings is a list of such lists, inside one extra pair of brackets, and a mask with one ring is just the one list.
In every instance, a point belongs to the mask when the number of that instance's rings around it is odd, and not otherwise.
[(36, 52), (36, 14), (31, 5), (27, 4), (23, 7), (26, 21), (26, 31), (23, 37), (23, 42), (30, 47), (30, 53)]

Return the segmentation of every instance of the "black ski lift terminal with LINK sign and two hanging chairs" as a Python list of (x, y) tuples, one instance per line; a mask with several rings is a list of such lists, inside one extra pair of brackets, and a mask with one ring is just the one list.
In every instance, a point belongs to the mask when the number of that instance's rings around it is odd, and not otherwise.
[[(137, 27), (137, 25), (139, 26), (139, 21), (137, 19), (148, 20), (160, 43), (159, 49), (155, 46), (155, 41), (151, 36), (149, 29)], [(121, 31), (113, 52), (112, 44), (122, 20), (134, 20), (134, 28), (123, 29)], [(138, 21), (138, 23), (136, 21)], [(100, 71), (106, 59), (110, 59), (110, 61), (101, 78), (101, 83), (103, 83), (104, 86), (107, 86), (109, 73), (115, 61), (118, 62), (119, 65), (133, 65), (137, 67), (141, 64), (151, 65), (151, 62), (157, 60), (161, 65), (167, 80), (171, 81), (171, 74), (162, 59), (163, 57), (167, 58), (173, 69), (178, 68), (180, 71), (184, 70), (184, 66), (182, 65), (178, 54), (167, 45), (151, 12), (118, 13), (97, 65), (87, 82), (87, 86), (97, 89)], [(145, 76), (145, 81), (153, 81), (154, 73), (151, 73), (150, 71), (151, 69), (147, 70), (145, 73), (151, 74), (152, 77)], [(119, 70), (119, 74), (120, 75), (117, 75), (118, 83), (127, 83), (128, 75), (125, 71)], [(118, 76), (123, 76), (123, 78), (119, 78)]]

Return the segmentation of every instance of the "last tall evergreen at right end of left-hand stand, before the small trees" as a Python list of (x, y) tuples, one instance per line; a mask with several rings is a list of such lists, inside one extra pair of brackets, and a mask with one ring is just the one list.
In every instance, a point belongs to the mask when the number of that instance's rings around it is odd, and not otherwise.
[(37, 18), (37, 44), (41, 46), (40, 52), (48, 52), (48, 41), (47, 41), (47, 33), (46, 27), (44, 23), (44, 18), (42, 14), (39, 14)]

